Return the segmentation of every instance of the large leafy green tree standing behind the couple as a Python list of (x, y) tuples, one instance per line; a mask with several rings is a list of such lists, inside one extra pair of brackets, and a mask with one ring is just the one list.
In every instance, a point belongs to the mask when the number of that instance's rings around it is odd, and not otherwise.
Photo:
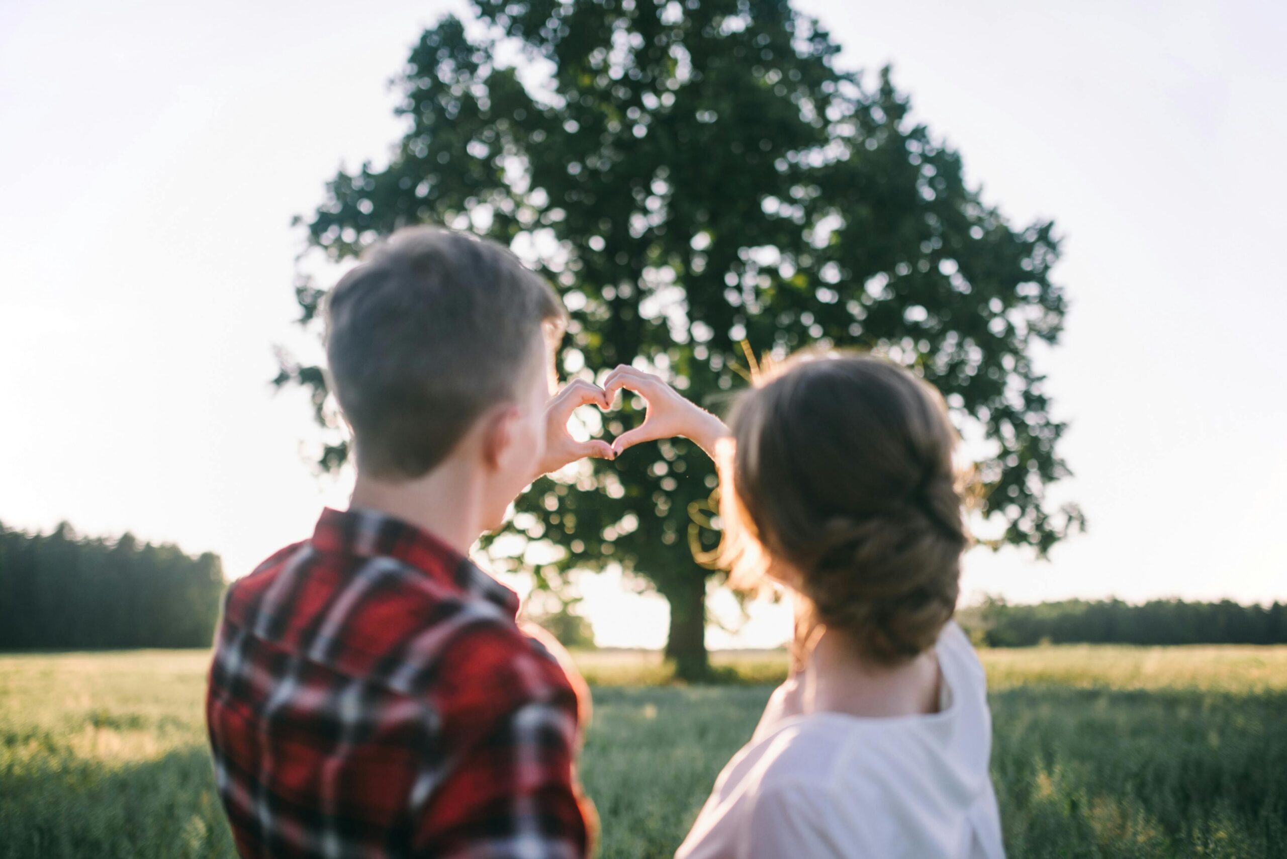
[[(837, 42), (786, 0), (474, 10), (421, 36), (396, 78), (405, 134), (387, 165), (328, 184), (301, 219), (313, 246), (338, 261), (420, 222), (498, 239), (561, 289), (568, 372), (644, 363), (699, 401), (741, 384), (750, 355), (883, 351), (969, 426), (999, 541), (1044, 553), (1077, 525), (1045, 502), (1064, 427), (1031, 363), (1064, 314), (1053, 225), (1014, 228), (982, 202), (888, 69), (838, 68)], [(296, 292), (311, 324), (323, 292)], [(338, 427), (318, 368), (286, 360), (278, 382)], [(335, 436), (322, 464), (345, 455)], [(541, 481), (511, 532), (565, 550), (547, 579), (609, 565), (646, 579), (671, 604), (669, 656), (698, 675), (713, 486), (694, 445), (664, 441)]]

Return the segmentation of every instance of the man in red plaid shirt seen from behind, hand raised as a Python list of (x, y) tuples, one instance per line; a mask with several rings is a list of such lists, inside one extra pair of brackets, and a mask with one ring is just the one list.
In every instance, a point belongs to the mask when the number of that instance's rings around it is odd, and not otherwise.
[(565, 311), (507, 251), (418, 228), (332, 291), (327, 363), (353, 430), (350, 509), (228, 593), (207, 720), (252, 856), (584, 856), (583, 684), (474, 566), (535, 477), (614, 455), (550, 399)]

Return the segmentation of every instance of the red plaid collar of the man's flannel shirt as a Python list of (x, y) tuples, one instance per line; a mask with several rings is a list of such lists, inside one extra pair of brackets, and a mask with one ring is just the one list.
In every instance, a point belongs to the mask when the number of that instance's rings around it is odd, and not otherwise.
[(519, 595), (429, 531), (368, 509), (326, 508), (313, 531), (313, 547), (355, 557), (386, 557), (407, 563), (470, 598), (519, 613)]

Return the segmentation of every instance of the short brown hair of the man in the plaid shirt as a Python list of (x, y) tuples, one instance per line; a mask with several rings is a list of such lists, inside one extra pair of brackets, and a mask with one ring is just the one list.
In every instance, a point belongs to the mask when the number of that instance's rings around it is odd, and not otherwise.
[(372, 247), (326, 307), (329, 381), (358, 468), (432, 469), (486, 408), (516, 395), (564, 321), (550, 284), (493, 242), (421, 226)]

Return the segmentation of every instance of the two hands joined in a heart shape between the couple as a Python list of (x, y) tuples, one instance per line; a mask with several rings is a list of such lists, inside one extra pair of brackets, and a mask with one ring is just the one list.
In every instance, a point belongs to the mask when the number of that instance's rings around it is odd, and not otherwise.
[[(620, 390), (633, 391), (644, 397), (644, 423), (616, 436), (611, 444), (602, 439), (577, 441), (568, 433), (568, 420), (577, 408), (597, 405), (607, 411)], [(546, 420), (542, 473), (557, 471), (583, 457), (616, 459), (637, 444), (674, 436), (691, 439), (713, 455), (716, 442), (728, 432), (722, 420), (686, 400), (660, 378), (628, 364), (609, 373), (602, 387), (584, 379), (568, 383), (546, 406)]]

